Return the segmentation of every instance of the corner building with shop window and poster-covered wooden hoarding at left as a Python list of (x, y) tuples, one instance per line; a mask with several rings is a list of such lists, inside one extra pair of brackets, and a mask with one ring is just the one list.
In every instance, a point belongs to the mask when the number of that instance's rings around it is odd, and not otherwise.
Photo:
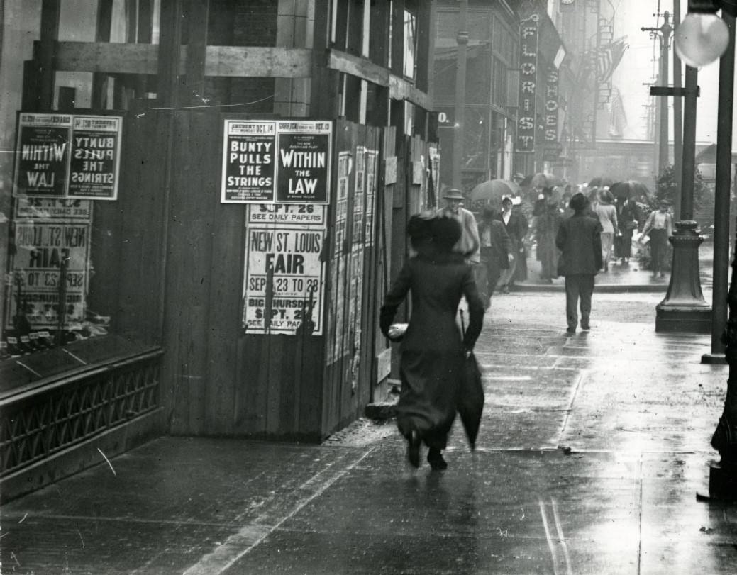
[(377, 306), (436, 204), (435, 3), (3, 5), (3, 497), (383, 399)]

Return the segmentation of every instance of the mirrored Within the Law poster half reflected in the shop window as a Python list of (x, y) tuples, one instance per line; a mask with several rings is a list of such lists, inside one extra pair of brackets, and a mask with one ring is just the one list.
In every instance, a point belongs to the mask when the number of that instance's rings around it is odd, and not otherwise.
[(69, 174), (69, 114), (21, 113), (15, 195), (64, 197)]

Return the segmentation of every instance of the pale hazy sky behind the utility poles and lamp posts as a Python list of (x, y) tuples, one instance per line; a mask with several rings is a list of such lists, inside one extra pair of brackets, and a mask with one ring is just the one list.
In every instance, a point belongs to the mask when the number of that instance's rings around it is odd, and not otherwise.
[[(617, 86), (622, 94), (624, 108), (627, 114), (628, 129), (625, 138), (646, 138), (646, 108), (649, 104), (649, 86), (646, 82), (654, 82), (657, 77), (657, 60), (659, 56), (660, 40), (653, 40), (648, 32), (642, 32), (641, 27), (660, 27), (663, 18), (655, 18), (657, 6), (660, 3), (660, 12), (673, 12), (672, 0), (602, 0), (609, 1), (616, 8), (614, 37), (626, 36), (629, 48), (624, 53), (622, 61), (612, 77), (612, 84)], [(681, 0), (681, 14), (685, 15), (688, 0)], [(668, 80), (673, 83), (673, 51), (671, 46), (668, 66)], [(699, 86), (701, 96), (696, 111), (696, 141), (716, 142), (716, 111), (717, 88), (719, 87), (719, 60), (699, 70)], [(672, 138), (672, 99), (669, 99), (671, 112)]]

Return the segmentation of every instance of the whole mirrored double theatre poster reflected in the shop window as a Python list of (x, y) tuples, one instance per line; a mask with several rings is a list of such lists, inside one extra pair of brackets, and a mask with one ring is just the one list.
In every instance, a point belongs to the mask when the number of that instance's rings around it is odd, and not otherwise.
[(117, 200), (119, 116), (21, 113), (15, 196)]

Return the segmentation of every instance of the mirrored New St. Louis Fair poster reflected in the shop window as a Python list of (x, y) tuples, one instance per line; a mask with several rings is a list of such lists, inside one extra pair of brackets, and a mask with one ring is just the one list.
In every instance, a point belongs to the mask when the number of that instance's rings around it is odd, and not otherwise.
[[(55, 328), (59, 323), (60, 292), (64, 292), (64, 322), (85, 317), (90, 225), (87, 222), (15, 222), (13, 283), (7, 326), (24, 314), (32, 328)], [(62, 264), (66, 274), (62, 281)]]

